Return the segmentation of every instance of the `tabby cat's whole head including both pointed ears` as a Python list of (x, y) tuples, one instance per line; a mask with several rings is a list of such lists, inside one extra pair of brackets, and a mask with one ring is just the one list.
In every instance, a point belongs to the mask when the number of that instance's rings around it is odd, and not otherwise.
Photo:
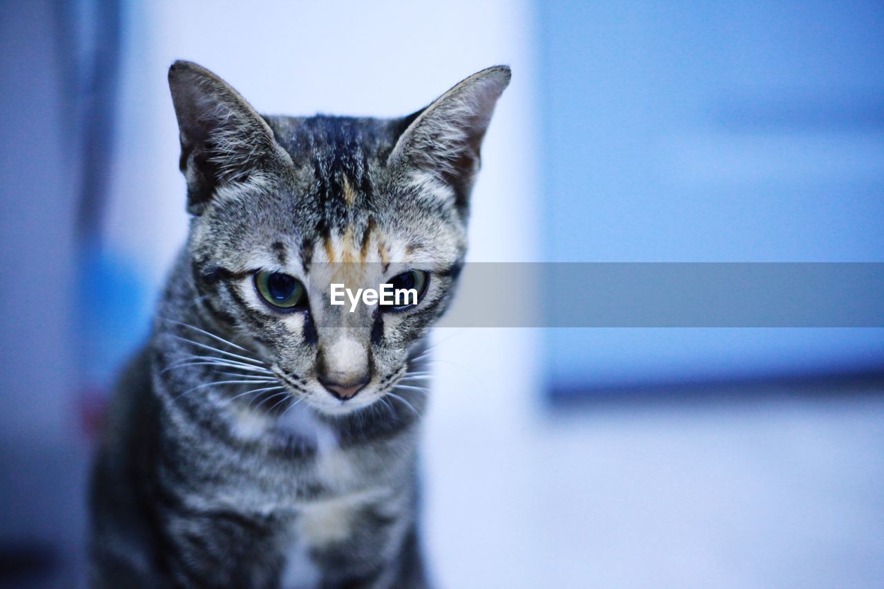
[[(387, 394), (453, 294), (479, 148), (509, 77), (483, 70), (402, 119), (290, 118), (172, 65), (188, 252), (214, 325), (326, 414)], [(411, 288), (417, 302), (351, 311), (347, 295), (331, 304), (332, 284)]]

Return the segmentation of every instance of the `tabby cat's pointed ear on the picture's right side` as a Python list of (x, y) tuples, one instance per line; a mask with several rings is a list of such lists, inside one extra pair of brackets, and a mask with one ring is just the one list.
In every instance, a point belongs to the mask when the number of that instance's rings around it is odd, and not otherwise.
[(415, 180), (430, 178), (450, 187), (455, 205), (465, 211), (485, 130), (509, 79), (509, 67), (495, 65), (439, 96), (400, 135), (388, 165), (402, 166)]

